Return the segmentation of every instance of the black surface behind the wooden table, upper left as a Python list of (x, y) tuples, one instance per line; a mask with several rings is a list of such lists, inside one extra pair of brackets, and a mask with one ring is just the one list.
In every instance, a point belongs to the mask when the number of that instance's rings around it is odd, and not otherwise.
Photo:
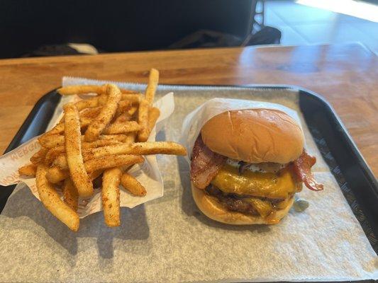
[(251, 3), (0, 0), (0, 57), (66, 42), (85, 42), (106, 52), (157, 50), (201, 29), (245, 37), (252, 23)]

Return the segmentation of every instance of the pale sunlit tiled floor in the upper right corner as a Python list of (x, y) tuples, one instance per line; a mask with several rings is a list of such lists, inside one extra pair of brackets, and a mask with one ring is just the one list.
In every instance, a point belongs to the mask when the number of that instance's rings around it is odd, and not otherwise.
[(269, 0), (265, 1), (265, 25), (281, 30), (283, 45), (362, 42), (378, 54), (378, 23), (361, 18), (289, 0)]

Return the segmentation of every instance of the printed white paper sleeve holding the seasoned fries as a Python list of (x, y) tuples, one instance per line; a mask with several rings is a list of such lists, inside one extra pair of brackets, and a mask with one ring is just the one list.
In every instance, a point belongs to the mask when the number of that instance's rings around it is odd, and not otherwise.
[[(65, 85), (65, 83), (63, 84)], [(82, 96), (86, 99), (89, 96)], [(78, 96), (63, 96), (60, 103), (55, 109), (54, 115), (48, 125), (48, 129), (54, 127), (57, 122), (62, 118), (62, 106), (69, 102), (76, 102), (81, 100)], [(154, 106), (159, 108), (160, 117), (157, 120), (157, 125), (149, 137), (149, 141), (155, 141), (156, 129), (161, 129), (165, 120), (172, 115), (174, 111), (174, 98), (173, 93), (168, 93), (154, 103)], [(29, 162), (30, 156), (33, 156), (35, 152), (40, 149), (38, 143), (38, 137), (30, 139), (25, 144), (21, 144), (13, 151), (10, 151), (4, 156), (0, 157), (0, 185), (13, 185), (20, 183), (20, 186), (26, 185), (30, 188), (35, 197), (39, 198), (37, 187), (35, 186), (35, 178), (22, 178), (18, 175), (18, 168), (26, 165)], [(162, 175), (160, 174), (157, 166), (155, 156), (145, 156), (145, 162), (143, 164), (135, 164), (128, 171), (131, 175), (138, 179), (138, 181), (146, 188), (147, 194), (145, 197), (135, 197), (128, 193), (126, 190), (120, 190), (120, 206), (133, 208), (139, 204), (143, 204), (150, 200), (155, 200), (157, 197), (163, 195), (163, 182)], [(62, 191), (59, 187), (56, 190), (62, 195)], [(102, 211), (101, 204), (101, 190), (99, 187), (94, 188), (94, 195), (89, 198), (79, 198), (77, 213), (80, 218), (84, 218), (89, 214)]]

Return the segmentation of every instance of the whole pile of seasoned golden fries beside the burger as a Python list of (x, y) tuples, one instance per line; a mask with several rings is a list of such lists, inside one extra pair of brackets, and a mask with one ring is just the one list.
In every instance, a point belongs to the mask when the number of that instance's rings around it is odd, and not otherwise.
[[(159, 72), (151, 69), (145, 94), (113, 84), (58, 89), (62, 96), (96, 96), (64, 105), (62, 120), (38, 138), (40, 151), (18, 172), (35, 177), (41, 202), (72, 231), (79, 229), (79, 197), (91, 197), (94, 183), (102, 183), (105, 223), (119, 226), (119, 185), (136, 196), (147, 193), (129, 168), (143, 163), (143, 155), (187, 154), (171, 141), (147, 141), (160, 115), (152, 105), (158, 80)], [(62, 187), (63, 200), (56, 187)]]

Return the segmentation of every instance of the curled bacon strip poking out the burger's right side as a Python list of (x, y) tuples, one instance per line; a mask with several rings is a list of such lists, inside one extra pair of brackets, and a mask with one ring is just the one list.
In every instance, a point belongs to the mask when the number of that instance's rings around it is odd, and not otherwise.
[(304, 150), (294, 162), (294, 171), (298, 178), (304, 182), (304, 185), (310, 190), (323, 190), (323, 185), (316, 182), (311, 173), (311, 167), (316, 163), (315, 156), (308, 155)]

